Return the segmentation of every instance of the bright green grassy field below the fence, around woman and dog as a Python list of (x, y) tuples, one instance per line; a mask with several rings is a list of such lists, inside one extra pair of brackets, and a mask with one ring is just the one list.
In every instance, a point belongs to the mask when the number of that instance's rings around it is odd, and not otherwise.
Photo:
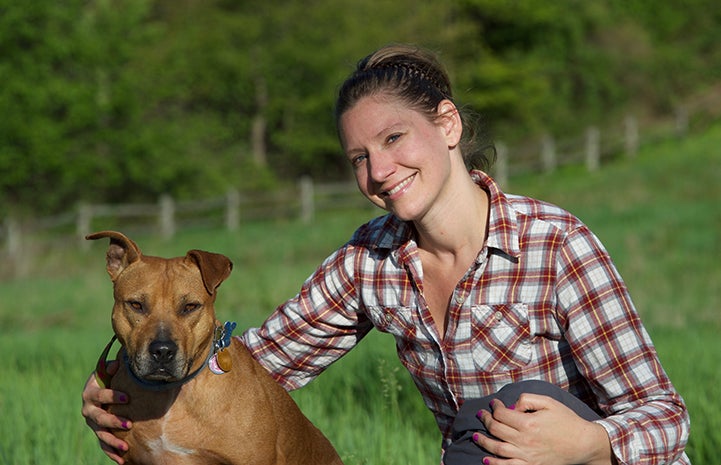
[[(514, 178), (506, 190), (560, 204), (591, 226), (626, 279), (661, 360), (692, 417), (695, 464), (721, 450), (721, 126), (645, 147), (600, 172), (567, 168)], [(151, 255), (190, 248), (236, 267), (219, 318), (258, 324), (354, 228), (377, 212), (287, 221), (242, 231), (190, 231), (173, 242), (135, 237)], [(0, 464), (109, 463), (80, 416), (80, 392), (111, 336), (106, 242), (48, 254), (32, 278), (0, 283)], [(58, 271), (62, 270), (62, 271)], [(347, 464), (438, 463), (440, 437), (400, 367), (393, 341), (371, 334), (293, 393)]]

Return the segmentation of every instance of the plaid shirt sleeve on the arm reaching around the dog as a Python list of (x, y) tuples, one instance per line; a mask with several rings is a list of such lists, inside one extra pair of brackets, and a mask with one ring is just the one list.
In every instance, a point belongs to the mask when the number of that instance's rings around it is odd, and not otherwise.
[(300, 388), (352, 349), (372, 328), (359, 311), (346, 245), (329, 256), (260, 328), (242, 341), (285, 389)]

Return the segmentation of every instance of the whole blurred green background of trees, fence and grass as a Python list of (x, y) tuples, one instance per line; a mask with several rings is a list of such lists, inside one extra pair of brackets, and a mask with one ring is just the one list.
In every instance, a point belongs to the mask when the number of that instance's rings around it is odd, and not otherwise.
[[(0, 0), (0, 464), (109, 463), (80, 416), (112, 332), (107, 244), (85, 233), (228, 255), (219, 318), (243, 328), (382, 213), (354, 187), (333, 104), (391, 42), (438, 52), (506, 190), (606, 244), (689, 404), (689, 454), (715, 463), (716, 0)], [(436, 465), (384, 336), (294, 396), (348, 464)]]

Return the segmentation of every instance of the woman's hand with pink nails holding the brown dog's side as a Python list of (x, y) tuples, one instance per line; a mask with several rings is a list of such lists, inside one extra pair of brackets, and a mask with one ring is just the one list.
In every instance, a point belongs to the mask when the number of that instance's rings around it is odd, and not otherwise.
[[(114, 375), (118, 371), (118, 362), (109, 362), (107, 373)], [(128, 402), (128, 396), (119, 391), (112, 389), (104, 389), (98, 384), (98, 380), (93, 372), (83, 389), (83, 409), (82, 413), (85, 422), (95, 431), (95, 435), (100, 440), (100, 447), (105, 454), (118, 464), (125, 463), (123, 453), (127, 452), (128, 444), (121, 439), (115, 437), (111, 430), (113, 429), (130, 429), (132, 424), (126, 418), (117, 417), (109, 413), (105, 406), (108, 404), (125, 404)]]

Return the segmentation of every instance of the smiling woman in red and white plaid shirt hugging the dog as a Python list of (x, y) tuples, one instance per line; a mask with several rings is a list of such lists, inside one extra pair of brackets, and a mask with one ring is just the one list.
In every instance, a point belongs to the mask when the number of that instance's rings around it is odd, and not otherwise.
[[(689, 463), (686, 408), (603, 246), (568, 212), (469, 171), (477, 153), (432, 54), (389, 46), (363, 59), (336, 122), (358, 188), (389, 213), (242, 336), (280, 384), (305, 385), (376, 328), (395, 336), (444, 450), (466, 400), (541, 380), (600, 419), (545, 391), (496, 400), (478, 411), (487, 434), (471, 435), (478, 463)], [(83, 393), (118, 462), (125, 444), (108, 428), (131, 425), (101, 405), (121, 395), (92, 376)]]

